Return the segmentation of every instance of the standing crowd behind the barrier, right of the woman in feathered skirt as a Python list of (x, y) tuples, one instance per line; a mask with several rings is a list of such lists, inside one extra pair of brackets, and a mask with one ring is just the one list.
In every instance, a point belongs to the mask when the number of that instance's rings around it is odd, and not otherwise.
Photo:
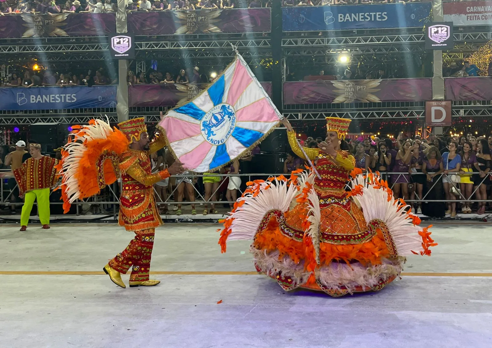
[[(322, 141), (322, 138), (308, 137), (301, 143), (316, 148)], [(448, 137), (430, 134), (427, 139), (406, 138), (403, 133), (387, 139), (361, 135), (348, 140), (345, 146), (354, 155), (357, 168), (378, 171), (388, 181), (395, 197), (414, 201), (409, 204), (415, 213), (452, 218), (457, 211), (481, 215), (486, 203), (470, 201), (492, 199), (492, 135), (464, 136), (461, 132), (461, 136)], [(303, 165), (291, 152), (284, 172), (290, 173)]]

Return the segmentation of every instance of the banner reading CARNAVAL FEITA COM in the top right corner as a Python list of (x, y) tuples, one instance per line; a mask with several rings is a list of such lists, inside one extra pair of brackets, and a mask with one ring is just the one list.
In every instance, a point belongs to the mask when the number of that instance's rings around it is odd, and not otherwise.
[(492, 1), (443, 2), (444, 21), (455, 26), (490, 26)]

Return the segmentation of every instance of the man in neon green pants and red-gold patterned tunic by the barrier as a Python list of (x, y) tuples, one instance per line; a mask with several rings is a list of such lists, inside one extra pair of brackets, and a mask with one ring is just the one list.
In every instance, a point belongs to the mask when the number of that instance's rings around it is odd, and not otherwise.
[(13, 172), (0, 173), (0, 178), (15, 176), (19, 186), (19, 197), (25, 197), (21, 213), (21, 231), (26, 231), (31, 215), (32, 204), (37, 200), (37, 211), (43, 229), (50, 228), (50, 188), (57, 181), (57, 160), (41, 154), (41, 145), (29, 144), (31, 158)]

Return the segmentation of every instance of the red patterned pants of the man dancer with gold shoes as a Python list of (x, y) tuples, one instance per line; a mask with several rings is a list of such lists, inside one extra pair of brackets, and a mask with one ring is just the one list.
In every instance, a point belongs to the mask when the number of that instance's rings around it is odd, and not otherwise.
[(109, 261), (111, 268), (126, 274), (131, 266), (130, 281), (149, 280), (154, 233), (155, 229), (135, 231), (135, 238), (126, 249)]

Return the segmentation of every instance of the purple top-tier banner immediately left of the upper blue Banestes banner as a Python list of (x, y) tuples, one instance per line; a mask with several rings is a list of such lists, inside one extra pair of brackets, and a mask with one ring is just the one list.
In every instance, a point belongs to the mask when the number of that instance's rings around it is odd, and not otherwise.
[(270, 31), (269, 8), (128, 13), (135, 35)]

